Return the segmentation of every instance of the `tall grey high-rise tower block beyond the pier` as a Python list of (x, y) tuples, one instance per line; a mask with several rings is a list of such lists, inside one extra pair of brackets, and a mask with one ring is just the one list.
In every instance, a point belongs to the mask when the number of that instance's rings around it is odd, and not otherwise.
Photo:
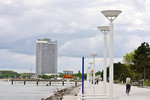
[(36, 74), (57, 73), (57, 42), (50, 39), (36, 41)]

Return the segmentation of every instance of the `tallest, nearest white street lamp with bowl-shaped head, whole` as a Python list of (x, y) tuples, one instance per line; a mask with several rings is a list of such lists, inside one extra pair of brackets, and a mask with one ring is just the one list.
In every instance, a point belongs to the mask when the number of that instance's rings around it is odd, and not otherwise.
[(110, 69), (109, 69), (109, 83), (110, 83), (110, 100), (113, 100), (113, 78), (114, 78), (114, 66), (113, 66), (113, 42), (114, 42), (114, 37), (113, 37), (113, 21), (117, 18), (117, 16), (121, 13), (122, 11), (120, 10), (104, 10), (101, 11), (101, 13), (110, 21), (110, 26), (109, 26), (109, 33), (110, 33), (110, 40), (109, 40), (109, 64), (110, 64)]

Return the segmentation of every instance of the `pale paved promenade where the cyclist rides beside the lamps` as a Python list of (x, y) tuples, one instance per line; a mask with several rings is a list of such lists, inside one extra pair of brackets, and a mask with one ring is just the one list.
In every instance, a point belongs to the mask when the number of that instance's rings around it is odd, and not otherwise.
[[(91, 94), (92, 88), (85, 85), (85, 94)], [(107, 83), (107, 93), (109, 93), (109, 84)], [(103, 82), (95, 85), (95, 94), (103, 94)], [(137, 86), (131, 87), (130, 95), (125, 93), (125, 85), (114, 84), (114, 95), (119, 96), (119, 100), (150, 100), (150, 89), (138, 88)]]

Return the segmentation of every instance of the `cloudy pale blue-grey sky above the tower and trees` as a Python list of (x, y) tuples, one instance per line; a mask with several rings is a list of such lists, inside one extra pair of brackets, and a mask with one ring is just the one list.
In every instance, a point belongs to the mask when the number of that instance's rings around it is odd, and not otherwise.
[[(150, 43), (150, 0), (0, 0), (0, 70), (35, 72), (36, 40), (58, 42), (58, 72), (85, 71), (97, 53), (103, 69), (103, 10), (121, 10), (114, 20), (114, 62), (122, 62), (142, 42)], [(109, 65), (109, 33), (107, 34)]]

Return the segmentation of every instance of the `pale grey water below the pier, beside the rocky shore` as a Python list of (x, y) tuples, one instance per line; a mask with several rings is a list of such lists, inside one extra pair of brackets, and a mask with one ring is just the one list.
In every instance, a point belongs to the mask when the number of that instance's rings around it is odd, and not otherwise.
[(0, 100), (41, 100), (41, 98), (50, 97), (57, 89), (65, 88), (62, 84), (52, 84), (46, 86), (46, 83), (39, 83), (36, 85), (35, 82), (11, 82), (0, 81)]

